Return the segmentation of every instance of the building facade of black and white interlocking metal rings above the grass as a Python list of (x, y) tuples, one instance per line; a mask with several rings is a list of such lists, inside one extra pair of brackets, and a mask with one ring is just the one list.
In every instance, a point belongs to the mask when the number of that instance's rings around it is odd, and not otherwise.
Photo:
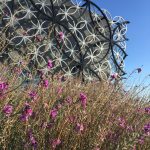
[(26, 72), (36, 68), (86, 80), (122, 76), (127, 23), (91, 0), (1, 0), (0, 59), (24, 64)]

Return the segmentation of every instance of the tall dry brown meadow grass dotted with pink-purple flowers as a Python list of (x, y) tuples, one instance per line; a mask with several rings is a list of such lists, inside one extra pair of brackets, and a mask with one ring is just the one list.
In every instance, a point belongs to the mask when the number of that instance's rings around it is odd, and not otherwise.
[(16, 71), (0, 70), (0, 150), (150, 150), (150, 103), (113, 84), (116, 74), (23, 85)]

